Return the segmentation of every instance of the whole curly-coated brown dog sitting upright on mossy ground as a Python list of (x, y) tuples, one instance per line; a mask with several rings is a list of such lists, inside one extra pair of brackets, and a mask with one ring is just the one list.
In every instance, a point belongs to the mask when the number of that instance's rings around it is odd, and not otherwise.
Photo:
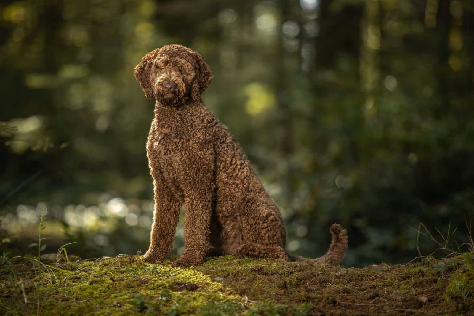
[(183, 204), (184, 252), (173, 266), (198, 265), (212, 254), (341, 261), (347, 236), (337, 224), (324, 256), (306, 259), (285, 251), (280, 211), (240, 145), (201, 99), (212, 75), (200, 54), (181, 45), (155, 49), (142, 58), (135, 77), (146, 97), (156, 99), (146, 144), (155, 213), (144, 261), (161, 261), (171, 250)]

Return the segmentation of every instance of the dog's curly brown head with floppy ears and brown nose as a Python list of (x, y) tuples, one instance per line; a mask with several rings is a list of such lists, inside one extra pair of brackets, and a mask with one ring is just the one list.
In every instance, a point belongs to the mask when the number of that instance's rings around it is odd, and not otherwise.
[(135, 67), (135, 78), (147, 98), (164, 105), (199, 101), (212, 80), (209, 65), (200, 54), (181, 45), (166, 45), (146, 54)]

